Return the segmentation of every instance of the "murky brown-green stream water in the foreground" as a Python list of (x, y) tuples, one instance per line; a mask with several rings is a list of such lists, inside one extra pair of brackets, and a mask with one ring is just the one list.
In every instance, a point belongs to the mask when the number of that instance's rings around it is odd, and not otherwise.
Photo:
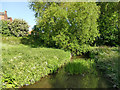
[(102, 77), (101, 73), (95, 72), (96, 74), (70, 75), (63, 67), (57, 73), (22, 88), (110, 88), (111, 84)]

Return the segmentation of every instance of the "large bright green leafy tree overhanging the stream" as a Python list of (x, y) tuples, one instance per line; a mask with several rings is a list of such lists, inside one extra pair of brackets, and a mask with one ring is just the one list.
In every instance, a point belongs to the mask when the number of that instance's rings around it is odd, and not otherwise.
[(44, 46), (80, 55), (87, 52), (95, 37), (99, 36), (96, 3), (32, 2), (30, 5), (37, 18), (36, 36)]

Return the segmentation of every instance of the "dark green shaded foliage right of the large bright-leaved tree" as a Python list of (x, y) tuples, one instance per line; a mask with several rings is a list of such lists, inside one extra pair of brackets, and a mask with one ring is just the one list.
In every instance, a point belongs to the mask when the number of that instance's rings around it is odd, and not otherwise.
[(98, 19), (100, 38), (97, 40), (98, 45), (116, 46), (120, 45), (118, 35), (118, 2), (99, 2), (100, 17)]

